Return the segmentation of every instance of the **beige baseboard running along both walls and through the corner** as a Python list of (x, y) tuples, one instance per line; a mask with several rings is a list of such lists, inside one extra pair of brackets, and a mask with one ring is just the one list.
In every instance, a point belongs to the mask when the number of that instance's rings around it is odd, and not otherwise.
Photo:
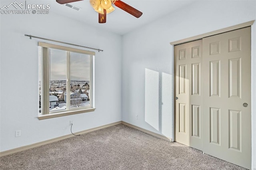
[[(118, 125), (118, 124), (121, 124), (121, 123), (126, 125), (126, 126), (128, 126), (128, 127), (132, 127), (132, 128), (137, 129), (137, 130), (140, 130), (142, 132), (151, 134), (152, 136), (156, 136), (158, 138), (161, 138), (161, 139), (167, 140), (169, 142), (172, 142), (171, 138), (168, 138), (168, 137), (166, 137), (164, 135), (161, 135), (161, 134), (157, 134), (157, 133), (151, 132), (151, 131), (146, 130), (144, 128), (140, 128), (140, 127), (134, 126), (134, 125), (132, 125), (130, 123), (126, 123), (126, 122), (123, 122), (123, 121), (118, 121), (118, 122), (115, 122), (115, 123), (110, 123), (108, 125), (103, 125), (103, 126), (100, 126), (100, 127), (90, 128), (90, 129), (87, 129), (87, 130), (76, 132), (76, 134), (85, 134), (85, 133), (93, 132), (95, 130), (100, 130), (102, 128), (112, 127), (114, 125)], [(6, 151), (3, 151), (3, 152), (0, 152), (0, 157), (6, 156), (6, 155), (9, 155), (9, 154), (14, 154), (14, 153), (17, 153), (17, 152), (21, 152), (21, 151), (24, 151), (24, 150), (36, 148), (36, 147), (39, 147), (39, 146), (42, 146), (42, 145), (45, 145), (45, 144), (50, 144), (50, 143), (57, 142), (57, 141), (60, 141), (60, 140), (64, 140), (66, 138), (71, 138), (71, 137), (74, 137), (74, 135), (73, 134), (67, 134), (65, 136), (60, 136), (58, 138), (53, 138), (53, 139), (45, 140), (45, 141), (42, 141), (42, 142), (30, 144), (30, 145), (27, 145), (27, 146), (21, 146), (21, 147), (18, 147), (18, 148), (6, 150)]]

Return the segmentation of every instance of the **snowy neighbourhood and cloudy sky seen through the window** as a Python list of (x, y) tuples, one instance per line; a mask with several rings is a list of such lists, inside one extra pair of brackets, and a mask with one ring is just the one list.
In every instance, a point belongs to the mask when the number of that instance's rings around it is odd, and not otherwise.
[[(50, 48), (49, 61), (49, 112), (90, 106), (90, 55)], [(41, 67), (39, 63), (39, 113), (42, 107)]]

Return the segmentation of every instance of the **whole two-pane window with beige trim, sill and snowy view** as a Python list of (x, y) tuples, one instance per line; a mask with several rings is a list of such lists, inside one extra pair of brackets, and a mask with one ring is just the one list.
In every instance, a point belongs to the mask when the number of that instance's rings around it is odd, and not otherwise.
[(94, 111), (94, 52), (39, 42), (39, 119)]

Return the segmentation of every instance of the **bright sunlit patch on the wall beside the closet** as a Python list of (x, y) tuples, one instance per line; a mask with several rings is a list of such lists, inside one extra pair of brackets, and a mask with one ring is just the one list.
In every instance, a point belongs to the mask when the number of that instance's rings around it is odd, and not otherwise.
[(172, 136), (172, 75), (145, 69), (145, 122)]

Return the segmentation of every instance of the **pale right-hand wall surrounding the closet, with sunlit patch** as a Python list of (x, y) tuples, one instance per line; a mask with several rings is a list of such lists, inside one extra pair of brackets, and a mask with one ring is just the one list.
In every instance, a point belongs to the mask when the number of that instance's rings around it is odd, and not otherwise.
[[(122, 121), (172, 138), (173, 46), (170, 42), (256, 19), (256, 1), (197, 1), (123, 37)], [(252, 26), (252, 65), (256, 64)], [(252, 103), (256, 103), (252, 67)], [(138, 120), (135, 119), (138, 115)], [(256, 169), (252, 105), (252, 169)]]

